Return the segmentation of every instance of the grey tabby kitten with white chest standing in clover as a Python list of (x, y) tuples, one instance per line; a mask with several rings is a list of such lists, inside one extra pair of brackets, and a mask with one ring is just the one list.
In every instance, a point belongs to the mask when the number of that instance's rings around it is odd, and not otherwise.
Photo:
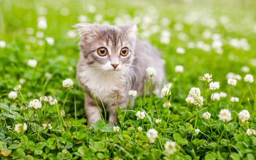
[[(125, 109), (129, 90), (144, 93), (147, 67), (154, 67), (153, 89), (164, 79), (164, 64), (159, 51), (135, 36), (136, 25), (120, 26), (76, 24), (80, 33), (81, 52), (77, 64), (77, 80), (85, 91), (88, 124), (101, 119), (94, 101), (101, 100), (109, 113), (109, 124), (117, 124), (117, 108)], [(102, 106), (101, 106), (102, 107)], [(102, 109), (102, 108), (101, 108)]]

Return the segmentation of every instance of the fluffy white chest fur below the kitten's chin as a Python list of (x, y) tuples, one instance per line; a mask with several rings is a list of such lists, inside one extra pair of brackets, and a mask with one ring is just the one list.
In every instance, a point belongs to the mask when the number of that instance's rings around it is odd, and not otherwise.
[(112, 102), (117, 91), (124, 87), (124, 77), (118, 73), (106, 73), (106, 71), (95, 72), (84, 69), (79, 72), (80, 82), (85, 85), (92, 94), (107, 104)]

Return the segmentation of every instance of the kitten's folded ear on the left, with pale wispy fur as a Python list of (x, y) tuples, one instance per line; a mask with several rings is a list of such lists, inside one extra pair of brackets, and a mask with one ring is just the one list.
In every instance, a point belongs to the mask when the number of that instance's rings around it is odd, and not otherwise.
[(82, 40), (88, 40), (95, 37), (95, 26), (94, 24), (89, 23), (77, 23), (74, 25), (76, 31), (79, 31), (79, 34)]

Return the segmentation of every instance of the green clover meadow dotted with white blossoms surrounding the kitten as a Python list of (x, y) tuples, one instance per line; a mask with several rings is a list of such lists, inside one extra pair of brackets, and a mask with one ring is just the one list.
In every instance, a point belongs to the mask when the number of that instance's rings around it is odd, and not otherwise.
[[(0, 0), (0, 159), (254, 160), (255, 8), (254, 0)], [(119, 109), (116, 126), (87, 124), (79, 22), (137, 24), (166, 64), (159, 95)]]

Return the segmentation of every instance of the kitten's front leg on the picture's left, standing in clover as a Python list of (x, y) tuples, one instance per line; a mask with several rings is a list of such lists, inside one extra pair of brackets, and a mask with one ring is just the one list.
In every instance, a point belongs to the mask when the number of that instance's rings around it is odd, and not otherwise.
[(97, 120), (102, 119), (99, 108), (95, 101), (88, 96), (85, 96), (85, 113), (88, 121), (88, 125), (94, 124)]

